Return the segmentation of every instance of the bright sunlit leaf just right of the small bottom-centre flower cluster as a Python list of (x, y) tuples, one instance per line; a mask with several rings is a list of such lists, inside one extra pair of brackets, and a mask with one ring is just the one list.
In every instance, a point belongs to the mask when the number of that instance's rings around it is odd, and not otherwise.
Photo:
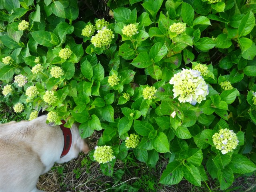
[(170, 152), (169, 142), (166, 134), (158, 132), (156, 137), (153, 139), (153, 147), (159, 153)]

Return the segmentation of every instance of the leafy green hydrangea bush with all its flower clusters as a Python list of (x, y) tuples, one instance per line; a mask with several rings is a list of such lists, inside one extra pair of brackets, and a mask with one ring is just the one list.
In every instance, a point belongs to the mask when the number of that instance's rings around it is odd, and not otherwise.
[(255, 2), (91, 3), (0, 0), (0, 102), (102, 134), (90, 158), (107, 176), (129, 150), (147, 166), (164, 159), (167, 185), (211, 177), (224, 190), (252, 174)]

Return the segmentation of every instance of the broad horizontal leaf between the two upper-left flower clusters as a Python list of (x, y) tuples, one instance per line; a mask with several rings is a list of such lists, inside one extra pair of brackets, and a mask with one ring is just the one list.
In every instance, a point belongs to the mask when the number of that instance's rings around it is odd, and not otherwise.
[(52, 47), (58, 45), (58, 37), (54, 33), (48, 31), (35, 31), (32, 32), (31, 35), (34, 40), (42, 46)]

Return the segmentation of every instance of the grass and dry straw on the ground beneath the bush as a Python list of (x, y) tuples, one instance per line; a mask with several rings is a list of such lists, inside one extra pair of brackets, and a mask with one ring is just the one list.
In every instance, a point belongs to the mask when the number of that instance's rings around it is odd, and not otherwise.
[[(0, 103), (0, 123), (24, 120), (25, 116), (16, 114), (12, 108)], [(91, 148), (97, 144), (100, 132), (88, 139)], [(38, 189), (49, 192), (70, 190), (72, 192), (212, 192), (219, 191), (219, 184), (214, 180), (207, 181), (210, 188), (202, 182), (201, 187), (190, 184), (185, 179), (179, 184), (166, 186), (158, 184), (168, 161), (160, 156), (156, 168), (146, 166), (133, 156), (132, 152), (125, 159), (126, 163), (117, 160), (114, 176), (104, 176), (97, 162), (90, 160), (88, 155), (80, 154), (78, 158), (66, 163), (56, 164), (52, 169), (40, 176)], [(225, 192), (256, 192), (256, 176), (238, 177), (229, 190)]]

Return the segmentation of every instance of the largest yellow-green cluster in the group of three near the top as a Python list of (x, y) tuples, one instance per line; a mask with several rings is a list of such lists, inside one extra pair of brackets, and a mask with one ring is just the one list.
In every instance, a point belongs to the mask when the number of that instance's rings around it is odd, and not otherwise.
[(108, 46), (111, 42), (111, 39), (114, 38), (114, 33), (111, 29), (102, 28), (98, 30), (98, 33), (95, 36), (92, 36), (91, 43), (95, 47)]

